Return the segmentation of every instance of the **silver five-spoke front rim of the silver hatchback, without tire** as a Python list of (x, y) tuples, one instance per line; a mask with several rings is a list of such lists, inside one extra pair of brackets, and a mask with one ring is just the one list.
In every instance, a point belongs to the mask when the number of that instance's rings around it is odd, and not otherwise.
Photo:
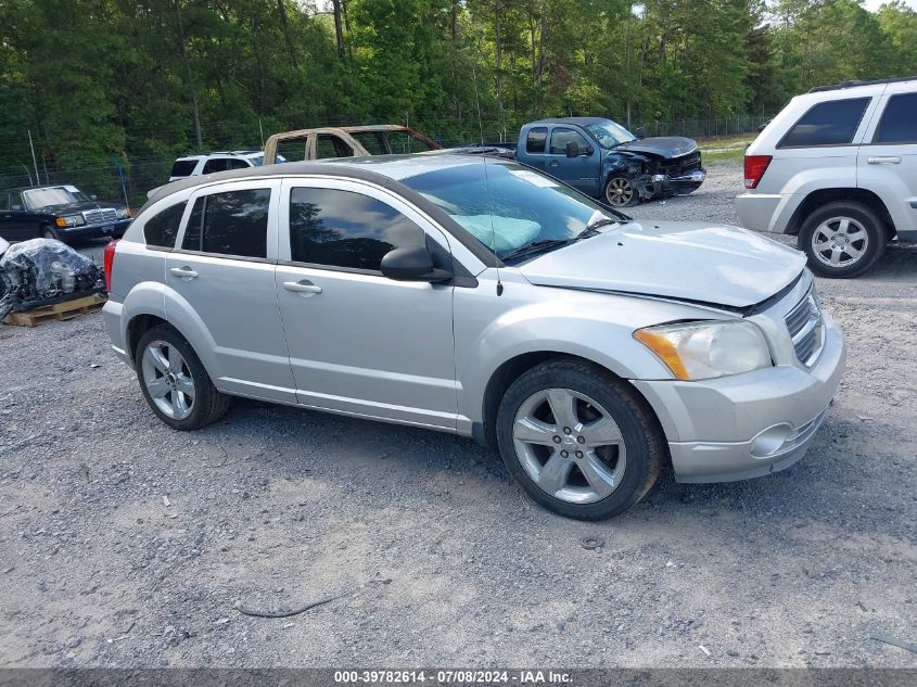
[(627, 466), (617, 423), (598, 402), (570, 389), (530, 396), (515, 414), (512, 443), (532, 481), (569, 504), (608, 497)]

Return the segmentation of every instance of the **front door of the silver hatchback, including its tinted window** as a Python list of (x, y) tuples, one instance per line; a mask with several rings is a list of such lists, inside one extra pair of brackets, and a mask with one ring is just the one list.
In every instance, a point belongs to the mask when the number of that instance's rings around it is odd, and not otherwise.
[[(283, 181), (277, 300), (301, 404), (455, 430), (449, 283), (395, 281), (394, 247), (443, 232), (387, 191), (342, 179)], [(430, 242), (433, 242), (430, 244)]]

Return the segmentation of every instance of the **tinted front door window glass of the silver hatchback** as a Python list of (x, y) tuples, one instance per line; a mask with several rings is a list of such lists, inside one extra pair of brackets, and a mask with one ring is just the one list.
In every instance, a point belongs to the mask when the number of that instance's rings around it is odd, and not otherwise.
[(379, 271), (382, 257), (424, 245), (425, 234), (391, 205), (337, 189), (290, 191), (290, 256), (294, 262)]

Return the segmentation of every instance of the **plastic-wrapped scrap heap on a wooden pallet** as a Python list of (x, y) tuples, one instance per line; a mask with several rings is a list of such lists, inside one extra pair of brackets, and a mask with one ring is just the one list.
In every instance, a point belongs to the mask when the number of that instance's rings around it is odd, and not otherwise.
[(0, 320), (93, 293), (105, 293), (102, 269), (60, 241), (23, 241), (0, 255)]

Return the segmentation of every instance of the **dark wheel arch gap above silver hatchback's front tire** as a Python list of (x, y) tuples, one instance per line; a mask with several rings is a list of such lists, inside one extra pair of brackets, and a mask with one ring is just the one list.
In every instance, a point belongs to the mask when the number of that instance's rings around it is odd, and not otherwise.
[(660, 431), (660, 435), (665, 436), (660, 418), (657, 416), (653, 407), (644, 394), (640, 393), (640, 391), (627, 379), (616, 374), (607, 366), (580, 355), (562, 351), (533, 351), (521, 353), (508, 360), (505, 360), (494, 370), (487, 380), (482, 399), (482, 423), (473, 431), (474, 438), (479, 443), (493, 449), (497, 448), (497, 411), (500, 407), (500, 400), (502, 400), (507, 390), (515, 380), (528, 370), (542, 365), (543, 362), (547, 362), (548, 360), (575, 360), (585, 362), (599, 368), (603, 374), (623, 382), (634, 394), (634, 398), (642, 406), (644, 410), (648, 414), (648, 417), (651, 418), (651, 421), (657, 425)]

